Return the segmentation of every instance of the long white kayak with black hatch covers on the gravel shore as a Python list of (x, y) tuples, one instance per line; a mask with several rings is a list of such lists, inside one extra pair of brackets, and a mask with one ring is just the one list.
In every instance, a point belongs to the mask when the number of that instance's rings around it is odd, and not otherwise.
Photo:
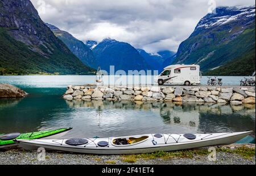
[(156, 151), (176, 151), (213, 145), (228, 145), (245, 138), (251, 132), (184, 135), (147, 134), (113, 138), (15, 140), (15, 142), (27, 150), (36, 150), (42, 147), (46, 150), (75, 153), (138, 154)]

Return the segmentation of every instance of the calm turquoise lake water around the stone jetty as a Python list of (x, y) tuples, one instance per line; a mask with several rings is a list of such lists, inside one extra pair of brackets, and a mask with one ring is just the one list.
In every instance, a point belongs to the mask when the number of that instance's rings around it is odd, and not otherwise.
[[(225, 85), (238, 85), (243, 77), (222, 78)], [(65, 101), (61, 98), (67, 85), (93, 83), (95, 79), (95, 76), (0, 76), (0, 83), (13, 84), (30, 93), (22, 99), (0, 100), (0, 132), (73, 127), (67, 138), (246, 130), (253, 130), (255, 135), (255, 105)], [(203, 83), (206, 82), (204, 77)]]

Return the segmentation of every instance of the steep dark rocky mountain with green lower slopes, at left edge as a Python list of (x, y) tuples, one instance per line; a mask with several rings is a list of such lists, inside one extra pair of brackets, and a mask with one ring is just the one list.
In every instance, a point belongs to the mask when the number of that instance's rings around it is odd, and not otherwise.
[(29, 0), (0, 1), (0, 74), (92, 74)]

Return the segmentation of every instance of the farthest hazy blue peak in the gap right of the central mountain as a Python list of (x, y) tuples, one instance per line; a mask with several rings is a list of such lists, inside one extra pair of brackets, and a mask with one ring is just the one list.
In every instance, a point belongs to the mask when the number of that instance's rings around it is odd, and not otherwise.
[(158, 70), (159, 72), (163, 71), (163, 63), (166, 59), (172, 57), (175, 53), (172, 51), (164, 50), (159, 51), (156, 54), (147, 53), (143, 49), (137, 49), (139, 54), (145, 59), (146, 63), (151, 66), (154, 70)]

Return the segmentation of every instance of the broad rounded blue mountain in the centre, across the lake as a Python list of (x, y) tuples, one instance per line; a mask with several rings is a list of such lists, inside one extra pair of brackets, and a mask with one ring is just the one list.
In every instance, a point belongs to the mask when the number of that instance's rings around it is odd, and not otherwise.
[(115, 66), (115, 71), (151, 70), (151, 67), (147, 65), (139, 52), (126, 42), (106, 38), (93, 48), (92, 51), (96, 57), (94, 68), (101, 66), (102, 70), (108, 72), (109, 66)]

